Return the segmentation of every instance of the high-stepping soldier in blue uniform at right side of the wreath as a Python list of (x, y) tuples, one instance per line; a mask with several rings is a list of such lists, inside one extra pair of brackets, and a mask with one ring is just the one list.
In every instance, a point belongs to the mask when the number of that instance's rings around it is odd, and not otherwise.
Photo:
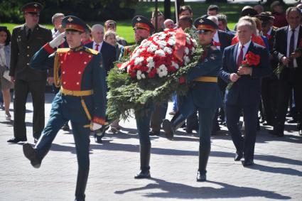
[(205, 52), (200, 58), (200, 63), (188, 72), (190, 89), (180, 105), (178, 118), (172, 122), (163, 120), (163, 130), (167, 138), (173, 138), (174, 131), (184, 119), (198, 110), (200, 146), (197, 181), (205, 181), (211, 148), (212, 120), (216, 109), (222, 106), (220, 88), (217, 85), (217, 75), (222, 67), (222, 53), (212, 44), (212, 38), (218, 28), (216, 23), (207, 18), (197, 18), (194, 26)]

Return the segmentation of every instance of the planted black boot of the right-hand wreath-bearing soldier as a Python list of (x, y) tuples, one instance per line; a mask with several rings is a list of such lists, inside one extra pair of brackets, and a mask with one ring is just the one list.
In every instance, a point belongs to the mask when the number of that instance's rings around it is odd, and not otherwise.
[(209, 159), (210, 148), (199, 146), (199, 168), (197, 172), (197, 181), (203, 182), (207, 180), (207, 160)]

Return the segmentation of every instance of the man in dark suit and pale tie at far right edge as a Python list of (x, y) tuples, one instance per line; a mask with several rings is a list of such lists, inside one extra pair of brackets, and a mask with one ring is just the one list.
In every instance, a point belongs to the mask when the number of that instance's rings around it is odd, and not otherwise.
[(288, 108), (288, 99), (293, 89), (296, 103), (298, 132), (302, 135), (302, 28), (300, 25), (301, 11), (296, 7), (286, 10), (286, 20), (289, 26), (276, 31), (274, 42), (274, 57), (284, 68), (279, 75), (278, 106), (276, 124), (271, 134), (284, 136), (284, 121)]

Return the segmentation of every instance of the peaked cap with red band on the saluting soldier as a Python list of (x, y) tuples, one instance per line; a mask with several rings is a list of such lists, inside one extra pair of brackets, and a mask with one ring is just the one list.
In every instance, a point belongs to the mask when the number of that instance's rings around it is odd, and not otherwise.
[(62, 20), (62, 27), (65, 28), (65, 31), (85, 32), (89, 30), (87, 24), (76, 16), (65, 16)]

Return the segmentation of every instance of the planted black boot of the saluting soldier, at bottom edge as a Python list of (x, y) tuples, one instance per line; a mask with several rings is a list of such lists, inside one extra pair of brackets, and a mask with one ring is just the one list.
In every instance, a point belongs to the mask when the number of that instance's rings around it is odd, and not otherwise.
[(75, 188), (75, 201), (85, 201), (85, 189), (89, 170), (77, 171), (77, 187)]

